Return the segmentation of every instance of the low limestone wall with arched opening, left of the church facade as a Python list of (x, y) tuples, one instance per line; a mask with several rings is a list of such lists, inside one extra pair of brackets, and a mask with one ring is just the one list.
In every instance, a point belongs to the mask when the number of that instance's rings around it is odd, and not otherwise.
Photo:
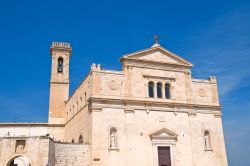
[(10, 164), (17, 157), (27, 159), (32, 166), (89, 166), (89, 155), (86, 144), (55, 142), (48, 137), (0, 138), (0, 166)]

